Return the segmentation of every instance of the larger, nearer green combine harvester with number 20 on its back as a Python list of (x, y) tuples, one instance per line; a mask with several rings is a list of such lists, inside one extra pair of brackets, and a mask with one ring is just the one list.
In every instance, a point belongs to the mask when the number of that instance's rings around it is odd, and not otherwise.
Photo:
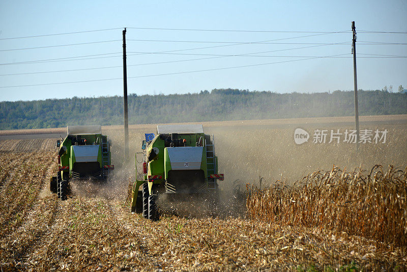
[[(132, 212), (156, 221), (158, 203), (183, 201), (188, 196), (216, 205), (218, 180), (224, 176), (218, 174), (213, 135), (203, 133), (202, 125), (158, 125), (156, 135), (146, 134), (141, 149), (143, 178), (136, 177), (132, 187)], [(166, 201), (158, 202), (160, 198)]]

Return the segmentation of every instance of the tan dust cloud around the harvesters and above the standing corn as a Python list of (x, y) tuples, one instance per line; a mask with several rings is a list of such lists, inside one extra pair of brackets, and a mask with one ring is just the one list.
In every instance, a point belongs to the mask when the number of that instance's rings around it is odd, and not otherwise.
[[(341, 132), (354, 129), (351, 117), (202, 122), (204, 131), (215, 136), (218, 170), (225, 174), (225, 180), (219, 181), (220, 200), (216, 205), (223, 211), (219, 212), (218, 209), (217, 213), (239, 214), (236, 207), (239, 210), (239, 207), (245, 206), (241, 199), (244, 199), (247, 183), (260, 188), (281, 180), (294, 183), (314, 171), (329, 171), (334, 165), (350, 171), (359, 167), (370, 170), (376, 164), (404, 168), (407, 162), (406, 118), (397, 122), (392, 121), (392, 118), (394, 117), (361, 117), (361, 130), (387, 129), (388, 134), (386, 143), (360, 144), (358, 153), (354, 144), (343, 141), (328, 143), (328, 139), (325, 144), (312, 143), (312, 133), (316, 129), (339, 129)], [(296, 128), (308, 131), (311, 139), (297, 145), (294, 142)], [(90, 183), (78, 194), (96, 194), (125, 200), (129, 184), (136, 178), (135, 166), (137, 165), (139, 172), (141, 170), (143, 155), (136, 152), (142, 152), (144, 133), (152, 132), (156, 132), (156, 124), (130, 125), (130, 155), (124, 161), (122, 127), (104, 128), (103, 133), (109, 135), (112, 143), (111, 156), (115, 169), (106, 184), (99, 186), (100, 184)], [(237, 196), (241, 199), (236, 200)], [(191, 209), (189, 203), (185, 202), (178, 203), (178, 207), (173, 209), (185, 216), (192, 215), (191, 210), (195, 215), (212, 214), (206, 207), (205, 203), (196, 202), (192, 203)], [(182, 212), (183, 210), (186, 212)]]

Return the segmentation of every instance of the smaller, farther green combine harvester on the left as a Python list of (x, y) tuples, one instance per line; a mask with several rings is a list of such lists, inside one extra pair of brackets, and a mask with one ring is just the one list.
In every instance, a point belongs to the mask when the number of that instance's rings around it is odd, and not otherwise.
[(110, 141), (102, 135), (100, 125), (68, 126), (68, 135), (56, 141), (58, 172), (50, 179), (50, 190), (61, 200), (68, 194), (68, 185), (76, 179), (105, 180), (114, 166), (110, 165)]

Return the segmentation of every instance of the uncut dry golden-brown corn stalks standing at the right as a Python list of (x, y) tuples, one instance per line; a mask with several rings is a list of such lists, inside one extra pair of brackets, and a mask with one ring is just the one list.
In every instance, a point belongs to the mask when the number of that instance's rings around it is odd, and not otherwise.
[(339, 235), (359, 235), (407, 246), (407, 168), (344, 172), (317, 171), (294, 185), (276, 182), (248, 187), (251, 219), (317, 227)]

